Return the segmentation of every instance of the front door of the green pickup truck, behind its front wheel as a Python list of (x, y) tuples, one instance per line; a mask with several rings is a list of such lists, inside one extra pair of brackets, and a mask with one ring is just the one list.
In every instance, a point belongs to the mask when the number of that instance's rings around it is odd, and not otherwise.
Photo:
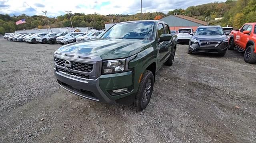
[[(158, 24), (158, 30), (157, 30), (157, 40), (160, 40), (160, 35), (164, 34), (164, 25), (163, 24)], [(168, 41), (161, 41), (158, 42), (156, 44), (156, 47), (158, 48), (158, 55), (157, 55), (157, 59), (158, 59), (158, 65), (161, 67), (164, 62), (165, 62), (165, 58), (166, 58), (166, 54), (168, 53), (169, 49), (168, 49)]]

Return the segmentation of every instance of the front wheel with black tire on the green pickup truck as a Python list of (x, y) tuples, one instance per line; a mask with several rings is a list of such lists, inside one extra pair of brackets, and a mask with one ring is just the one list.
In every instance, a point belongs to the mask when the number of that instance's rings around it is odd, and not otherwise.
[(150, 98), (153, 92), (153, 87), (154, 87), (154, 75), (151, 71), (146, 70), (143, 73), (143, 76), (138, 88), (138, 92), (132, 104), (132, 107), (135, 110), (141, 111), (148, 106), (148, 103), (150, 101)]

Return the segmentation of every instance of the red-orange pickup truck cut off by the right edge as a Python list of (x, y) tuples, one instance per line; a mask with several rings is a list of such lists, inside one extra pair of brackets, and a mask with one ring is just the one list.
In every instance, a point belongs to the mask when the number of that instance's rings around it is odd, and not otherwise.
[(244, 52), (246, 63), (256, 63), (256, 23), (247, 23), (230, 34), (229, 50)]

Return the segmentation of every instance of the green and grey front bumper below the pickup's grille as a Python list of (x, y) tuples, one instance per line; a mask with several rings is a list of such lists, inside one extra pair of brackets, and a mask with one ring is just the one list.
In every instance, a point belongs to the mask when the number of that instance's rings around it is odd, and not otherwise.
[[(110, 91), (132, 86), (132, 71), (101, 75), (97, 79), (79, 80), (54, 69), (60, 86), (78, 96), (105, 103), (130, 105), (135, 94), (130, 90), (124, 94), (110, 95)], [(126, 81), (126, 82), (122, 82)]]

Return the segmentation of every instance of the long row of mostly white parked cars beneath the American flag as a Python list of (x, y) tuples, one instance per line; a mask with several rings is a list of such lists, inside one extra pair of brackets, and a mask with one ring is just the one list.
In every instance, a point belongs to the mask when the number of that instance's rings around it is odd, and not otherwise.
[(27, 43), (52, 43), (52, 44), (62, 44), (66, 45), (69, 43), (74, 43), (78, 41), (85, 41), (89, 39), (99, 38), (103, 31), (96, 32), (64, 32), (64, 33), (6, 33), (4, 39), (8, 41), (19, 41)]

